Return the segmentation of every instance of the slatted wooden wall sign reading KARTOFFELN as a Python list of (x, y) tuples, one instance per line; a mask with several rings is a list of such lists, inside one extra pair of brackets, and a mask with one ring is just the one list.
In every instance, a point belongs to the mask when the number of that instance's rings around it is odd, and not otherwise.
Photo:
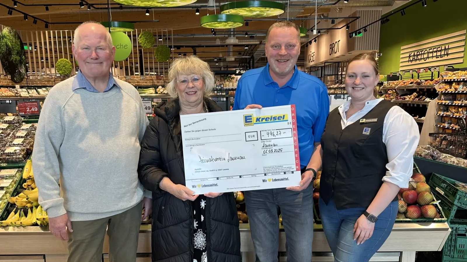
[(464, 62), (466, 30), (401, 47), (399, 70)]

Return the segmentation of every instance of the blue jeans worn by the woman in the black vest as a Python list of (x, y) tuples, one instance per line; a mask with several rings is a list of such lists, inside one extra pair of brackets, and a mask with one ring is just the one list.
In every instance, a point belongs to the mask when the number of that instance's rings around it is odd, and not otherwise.
[(392, 201), (378, 215), (373, 235), (363, 244), (357, 246), (357, 240), (354, 240), (355, 222), (367, 207), (337, 210), (333, 199), (326, 206), (325, 202), (319, 198), (319, 213), (321, 214), (323, 230), (329, 247), (333, 251), (334, 261), (368, 262), (391, 234), (396, 221), (397, 208), (398, 202)]

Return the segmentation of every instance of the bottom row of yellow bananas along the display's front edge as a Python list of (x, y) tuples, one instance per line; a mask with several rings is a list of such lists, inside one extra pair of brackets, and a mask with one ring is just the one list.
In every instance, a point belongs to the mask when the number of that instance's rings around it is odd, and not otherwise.
[(33, 225), (46, 226), (49, 224), (49, 216), (47, 215), (47, 212), (42, 210), (42, 206), (33, 206), (32, 211), (31, 208), (28, 208), (27, 216), (24, 214), (24, 210), (22, 208), (18, 208), (16, 213), (15, 211), (16, 207), (8, 215), (6, 220), (0, 221), (0, 226), (28, 227)]

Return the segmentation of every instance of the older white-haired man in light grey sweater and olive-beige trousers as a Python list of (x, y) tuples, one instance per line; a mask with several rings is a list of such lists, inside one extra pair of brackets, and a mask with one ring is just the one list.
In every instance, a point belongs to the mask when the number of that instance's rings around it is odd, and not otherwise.
[[(35, 136), (33, 170), (50, 232), (68, 240), (69, 262), (100, 262), (106, 232), (111, 262), (136, 261), (142, 207), (138, 181), (148, 118), (138, 91), (110, 73), (115, 47), (105, 27), (75, 30), (79, 71), (49, 92)], [(67, 232), (68, 231), (68, 232)]]

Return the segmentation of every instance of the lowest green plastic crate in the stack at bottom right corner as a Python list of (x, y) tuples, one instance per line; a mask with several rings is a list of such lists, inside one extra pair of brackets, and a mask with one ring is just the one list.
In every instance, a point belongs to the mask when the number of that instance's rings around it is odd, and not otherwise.
[(467, 261), (467, 228), (452, 228), (443, 248), (443, 262)]

